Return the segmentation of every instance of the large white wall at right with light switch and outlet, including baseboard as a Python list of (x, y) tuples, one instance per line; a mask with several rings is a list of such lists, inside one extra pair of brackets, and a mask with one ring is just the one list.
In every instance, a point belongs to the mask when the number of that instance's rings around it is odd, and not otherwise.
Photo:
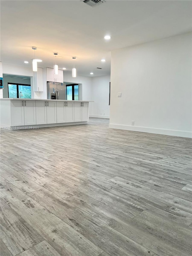
[(110, 128), (191, 137), (191, 33), (112, 51)]

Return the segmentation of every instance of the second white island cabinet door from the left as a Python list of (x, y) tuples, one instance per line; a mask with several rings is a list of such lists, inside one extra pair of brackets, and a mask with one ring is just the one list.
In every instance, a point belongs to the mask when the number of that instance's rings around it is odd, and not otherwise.
[(25, 125), (36, 125), (35, 101), (24, 101), (24, 120)]

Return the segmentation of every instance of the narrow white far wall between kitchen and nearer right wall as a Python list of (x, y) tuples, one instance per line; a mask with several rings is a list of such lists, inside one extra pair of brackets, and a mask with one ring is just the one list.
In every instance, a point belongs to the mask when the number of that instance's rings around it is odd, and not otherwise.
[(109, 76), (92, 78), (92, 109), (90, 116), (109, 118)]

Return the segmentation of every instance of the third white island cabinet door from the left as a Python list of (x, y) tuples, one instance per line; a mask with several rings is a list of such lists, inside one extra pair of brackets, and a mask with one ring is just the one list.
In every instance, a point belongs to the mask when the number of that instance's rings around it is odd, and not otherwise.
[(47, 124), (47, 101), (36, 101), (36, 122), (37, 125)]

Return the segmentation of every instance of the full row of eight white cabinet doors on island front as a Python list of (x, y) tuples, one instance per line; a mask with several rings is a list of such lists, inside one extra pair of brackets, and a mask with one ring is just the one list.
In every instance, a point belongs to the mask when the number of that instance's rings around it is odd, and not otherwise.
[(88, 121), (88, 102), (10, 100), (11, 126)]

